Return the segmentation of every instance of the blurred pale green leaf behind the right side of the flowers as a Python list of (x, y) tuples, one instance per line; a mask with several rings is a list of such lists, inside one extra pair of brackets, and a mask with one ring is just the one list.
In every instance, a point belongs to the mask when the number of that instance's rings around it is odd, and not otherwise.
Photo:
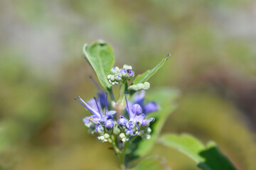
[(139, 140), (136, 143), (137, 149), (133, 153), (133, 157), (143, 157), (148, 154), (154, 147), (161, 129), (166, 121), (166, 118), (176, 108), (174, 100), (178, 97), (179, 91), (168, 87), (162, 87), (161, 89), (152, 89), (146, 94), (146, 101), (157, 101), (160, 106), (160, 110), (147, 115), (147, 118), (156, 118), (151, 123), (151, 139), (150, 140)]

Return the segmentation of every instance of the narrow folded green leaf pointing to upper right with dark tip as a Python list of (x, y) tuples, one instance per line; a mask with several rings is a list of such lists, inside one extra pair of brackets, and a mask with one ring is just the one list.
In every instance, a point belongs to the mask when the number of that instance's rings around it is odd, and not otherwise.
[(167, 57), (165, 57), (163, 60), (161, 60), (161, 62), (159, 62), (159, 64), (156, 65), (156, 67), (154, 67), (153, 69), (149, 69), (146, 72), (144, 72), (143, 74), (139, 74), (134, 81), (132, 82), (132, 84), (139, 84), (139, 83), (144, 83), (146, 82), (148, 79), (150, 79), (150, 77), (154, 76), (154, 74), (156, 74), (156, 72), (159, 71), (159, 69), (161, 69), (161, 67), (164, 65), (164, 63), (166, 62), (166, 60), (169, 59), (169, 55)]

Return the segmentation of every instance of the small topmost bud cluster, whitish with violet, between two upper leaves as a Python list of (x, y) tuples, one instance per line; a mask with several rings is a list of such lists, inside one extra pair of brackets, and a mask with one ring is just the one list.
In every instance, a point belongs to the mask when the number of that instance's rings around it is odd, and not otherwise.
[(124, 64), (122, 69), (119, 69), (119, 67), (114, 67), (111, 69), (111, 72), (112, 74), (108, 75), (107, 79), (112, 85), (117, 85), (134, 78), (132, 66), (127, 64)]

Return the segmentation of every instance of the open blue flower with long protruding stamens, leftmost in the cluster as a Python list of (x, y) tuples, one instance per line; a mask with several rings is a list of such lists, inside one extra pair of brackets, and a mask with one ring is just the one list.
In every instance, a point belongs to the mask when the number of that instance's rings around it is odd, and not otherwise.
[[(78, 98), (80, 100), (78, 100)], [(100, 99), (94, 98), (96, 108), (92, 108), (85, 101), (83, 101), (82, 98), (80, 98), (79, 96), (78, 96), (78, 98), (75, 98), (75, 100), (78, 101), (78, 103), (80, 103), (88, 111), (90, 111), (90, 113), (93, 114), (93, 115), (83, 118), (83, 121), (85, 124), (88, 124), (90, 121), (95, 124), (105, 123), (107, 120), (112, 119), (112, 115), (117, 113), (117, 111), (108, 111), (107, 112), (107, 93), (106, 93), (105, 113), (103, 113), (102, 108), (100, 107)]]

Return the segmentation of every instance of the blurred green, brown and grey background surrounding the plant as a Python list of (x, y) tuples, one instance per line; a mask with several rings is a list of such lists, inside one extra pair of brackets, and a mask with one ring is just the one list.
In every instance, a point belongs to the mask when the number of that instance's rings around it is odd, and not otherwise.
[[(253, 0), (0, 1), (0, 169), (117, 169), (87, 134), (95, 74), (82, 45), (110, 42), (139, 74), (169, 52), (151, 86), (181, 90), (164, 132), (214, 140), (238, 169), (256, 169), (256, 2)], [(174, 149), (151, 154), (197, 169)]]

